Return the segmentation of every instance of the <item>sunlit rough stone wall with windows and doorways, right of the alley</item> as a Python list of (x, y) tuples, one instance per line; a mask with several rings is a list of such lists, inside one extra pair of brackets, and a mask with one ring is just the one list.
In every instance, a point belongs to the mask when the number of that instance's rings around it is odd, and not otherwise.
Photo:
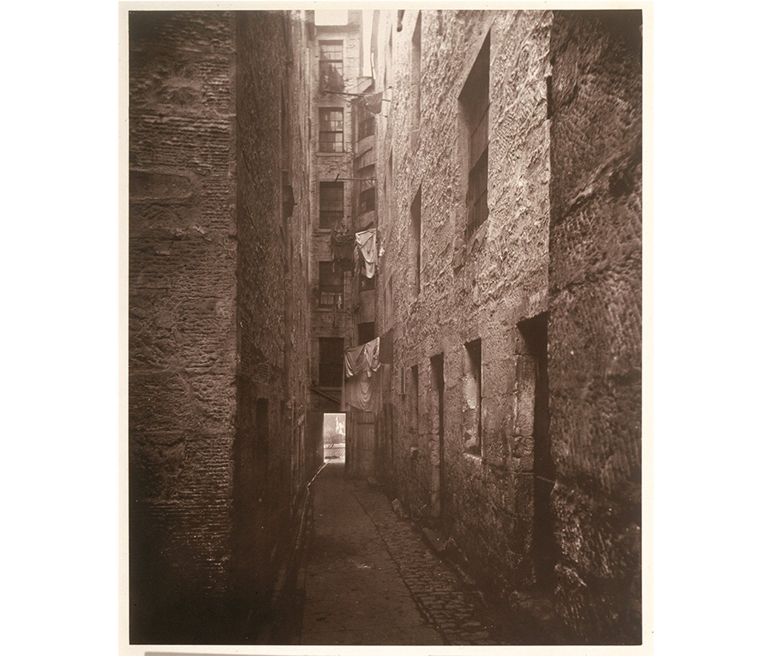
[[(414, 518), (445, 530), (471, 573), (508, 594), (535, 580), (528, 392), (535, 374), (517, 324), (547, 309), (551, 13), (421, 12), (420, 124), (411, 137), (417, 19), (418, 12), (406, 11), (397, 32), (393, 15), (381, 12), (379, 18), (376, 79), (385, 76), (386, 86), (394, 87), (378, 120), (378, 171), (386, 190), (378, 206), (384, 245), (378, 298), (388, 296), (392, 278), (394, 430), (391, 462), (378, 471), (393, 477)], [(490, 213), (467, 237), (467, 127), (459, 96), (488, 35)], [(411, 205), (419, 190), (416, 296)], [(378, 321), (383, 333), (384, 316)], [(482, 444), (473, 449), (465, 435), (476, 412), (468, 399), (465, 345), (476, 340), (482, 351)], [(440, 353), (442, 441), (430, 368), (430, 358)], [(418, 367), (417, 390), (412, 367)]]

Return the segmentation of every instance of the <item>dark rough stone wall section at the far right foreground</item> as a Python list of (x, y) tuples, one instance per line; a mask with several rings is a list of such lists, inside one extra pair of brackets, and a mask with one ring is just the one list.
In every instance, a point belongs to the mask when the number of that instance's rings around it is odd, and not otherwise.
[(641, 12), (556, 12), (550, 431), (560, 614), (641, 641)]

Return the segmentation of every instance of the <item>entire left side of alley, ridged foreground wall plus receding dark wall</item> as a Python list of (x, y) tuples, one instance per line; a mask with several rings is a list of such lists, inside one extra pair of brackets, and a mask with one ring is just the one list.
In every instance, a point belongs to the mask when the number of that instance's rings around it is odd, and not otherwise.
[[(281, 12), (130, 12), (132, 642), (254, 620), (311, 468), (299, 31)], [(285, 186), (306, 199), (291, 218)]]

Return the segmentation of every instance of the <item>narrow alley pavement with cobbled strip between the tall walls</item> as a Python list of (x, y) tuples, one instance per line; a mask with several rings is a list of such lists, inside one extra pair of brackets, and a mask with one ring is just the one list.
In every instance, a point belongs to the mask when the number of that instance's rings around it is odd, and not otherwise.
[[(317, 482), (303, 644), (537, 644), (487, 606), (366, 482)], [(321, 512), (320, 512), (321, 511)]]

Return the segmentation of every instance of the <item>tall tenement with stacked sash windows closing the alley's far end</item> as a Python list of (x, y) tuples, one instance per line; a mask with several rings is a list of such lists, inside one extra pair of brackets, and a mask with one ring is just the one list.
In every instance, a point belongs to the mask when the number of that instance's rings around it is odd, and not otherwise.
[[(341, 411), (345, 350), (375, 336), (375, 281), (361, 274), (356, 247), (357, 232), (374, 228), (374, 115), (367, 120), (357, 104), (371, 90), (372, 78), (364, 74), (362, 12), (345, 13), (344, 25), (312, 21), (308, 32), (313, 215), (309, 424), (315, 433), (322, 430), (325, 413)], [(373, 473), (373, 423), (372, 412), (349, 406), (350, 475)]]

